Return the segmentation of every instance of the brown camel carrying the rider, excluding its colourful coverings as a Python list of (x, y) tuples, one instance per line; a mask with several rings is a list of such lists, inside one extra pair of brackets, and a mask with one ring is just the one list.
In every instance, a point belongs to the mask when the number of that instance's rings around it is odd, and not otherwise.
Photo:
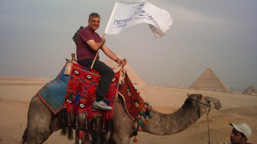
[[(154, 135), (178, 133), (188, 128), (206, 112), (221, 108), (220, 101), (216, 98), (204, 97), (202, 94), (187, 94), (187, 96), (182, 107), (174, 113), (163, 114), (152, 110), (152, 118), (142, 131)], [(22, 136), (23, 144), (39, 144), (46, 141), (53, 132), (61, 129), (62, 114), (60, 111), (54, 115), (36, 94), (29, 105), (27, 128)], [(134, 121), (126, 113), (123, 102), (115, 102), (112, 120), (113, 129), (108, 143), (128, 144), (133, 137)], [(71, 116), (71, 121), (73, 124), (74, 115)], [(97, 123), (100, 124), (100, 118), (97, 118)], [(74, 125), (72, 127), (75, 129)], [(79, 114), (79, 129), (83, 128), (85, 128), (85, 114)], [(92, 127), (89, 129), (92, 130)], [(100, 131), (100, 128), (97, 128), (97, 133)]]

